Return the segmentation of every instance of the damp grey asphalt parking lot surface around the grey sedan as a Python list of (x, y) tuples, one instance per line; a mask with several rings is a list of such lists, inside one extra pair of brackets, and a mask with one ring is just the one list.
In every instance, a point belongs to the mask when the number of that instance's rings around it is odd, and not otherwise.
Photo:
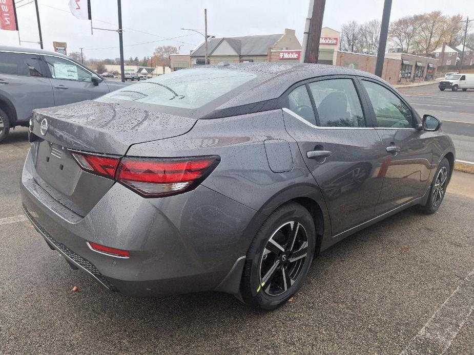
[(1, 354), (473, 353), (474, 198), (451, 186), (438, 213), (406, 210), (323, 252), (273, 313), (215, 293), (130, 298), (71, 270), (22, 217), (26, 137), (0, 145)]

